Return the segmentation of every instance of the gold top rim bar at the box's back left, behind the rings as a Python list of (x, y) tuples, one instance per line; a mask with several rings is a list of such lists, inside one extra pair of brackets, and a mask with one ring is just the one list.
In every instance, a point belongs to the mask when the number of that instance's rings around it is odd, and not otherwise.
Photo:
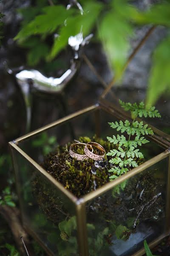
[(50, 129), (50, 128), (56, 126), (56, 125), (59, 125), (61, 123), (63, 124), (64, 122), (67, 122), (70, 119), (76, 118), (76, 117), (78, 117), (78, 116), (80, 116), (80, 115), (82, 115), (82, 114), (84, 114), (86, 112), (93, 111), (94, 109), (96, 109), (98, 107), (99, 107), (99, 105), (96, 104), (96, 105), (92, 105), (92, 106), (90, 106), (88, 108), (83, 108), (83, 109), (81, 109), (81, 110), (79, 110), (79, 111), (77, 111), (75, 113), (72, 113), (72, 114), (70, 114), (68, 116), (62, 117), (62, 118), (58, 119), (57, 121), (50, 123), (49, 125), (45, 125), (45, 126), (39, 128), (39, 129), (35, 130), (35, 131), (32, 131), (32, 132), (30, 132), (30, 133), (28, 133), (26, 135), (23, 135), (22, 137), (19, 137), (19, 138), (17, 138), (14, 141), (15, 141), (16, 144), (20, 143), (21, 141), (26, 140), (26, 139), (28, 139), (29, 137), (31, 137), (31, 136), (33, 136), (35, 134), (38, 134), (38, 133), (40, 133), (42, 131), (45, 131), (45, 130), (48, 130), (48, 129)]

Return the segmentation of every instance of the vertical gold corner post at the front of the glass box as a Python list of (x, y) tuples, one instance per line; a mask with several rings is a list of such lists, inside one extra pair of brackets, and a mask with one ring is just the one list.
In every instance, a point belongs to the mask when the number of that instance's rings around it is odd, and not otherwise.
[(83, 200), (77, 201), (77, 239), (79, 244), (79, 255), (88, 256), (88, 234), (86, 227), (86, 211)]

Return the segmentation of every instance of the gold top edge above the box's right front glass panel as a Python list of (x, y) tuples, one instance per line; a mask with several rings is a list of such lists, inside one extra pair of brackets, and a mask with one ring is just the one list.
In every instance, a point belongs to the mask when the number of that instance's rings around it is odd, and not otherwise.
[(134, 175), (142, 172), (144, 169), (152, 166), (155, 163), (158, 163), (160, 160), (164, 159), (170, 155), (170, 150), (166, 150), (162, 152), (161, 154), (157, 155), (156, 157), (151, 158), (150, 160), (147, 160), (146, 162), (142, 163), (140, 166), (132, 169), (130, 172), (127, 172), (126, 174), (122, 175), (121, 177), (117, 178), (116, 180), (113, 180), (109, 183), (106, 183), (99, 189), (96, 189), (95, 191), (90, 192), (89, 194), (82, 197), (84, 202), (88, 202), (89, 200), (92, 200), (96, 198), (97, 196), (101, 195), (102, 193), (107, 192), (109, 189), (112, 189), (114, 186), (119, 185), (126, 179), (129, 179), (130, 177), (133, 177)]

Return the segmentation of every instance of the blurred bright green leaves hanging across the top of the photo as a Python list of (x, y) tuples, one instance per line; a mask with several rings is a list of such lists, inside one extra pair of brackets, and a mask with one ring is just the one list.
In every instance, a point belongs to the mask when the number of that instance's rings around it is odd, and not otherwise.
[[(83, 37), (93, 32), (94, 40), (101, 41), (116, 80), (122, 77), (130, 39), (136, 26), (144, 24), (170, 26), (170, 1), (164, 0), (139, 10), (134, 1), (111, 0), (107, 4), (98, 0), (79, 1), (84, 9), (66, 10), (57, 1), (35, 1), (34, 7), (18, 9), (23, 16), (20, 32), (15, 37), (21, 47), (28, 49), (27, 61), (36, 66), (42, 59), (54, 62), (60, 51), (68, 45), (68, 38), (80, 31)], [(49, 3), (52, 5), (49, 6)], [(57, 35), (56, 35), (57, 34)], [(170, 36), (162, 41), (153, 54), (153, 65), (148, 81), (146, 102), (155, 104), (162, 93), (170, 90)], [(162, 69), (162, 67), (164, 68)]]

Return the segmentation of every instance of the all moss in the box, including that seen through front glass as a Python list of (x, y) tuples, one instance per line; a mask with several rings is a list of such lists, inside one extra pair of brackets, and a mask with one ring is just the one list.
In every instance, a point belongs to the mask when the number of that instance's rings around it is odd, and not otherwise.
[[(118, 148), (118, 145), (113, 145), (113, 143), (97, 137), (92, 139), (79, 137), (78, 141), (82, 143), (94, 141), (102, 145), (106, 152), (113, 147)], [(58, 146), (54, 152), (44, 158), (42, 166), (65, 189), (80, 198), (110, 182), (109, 176), (111, 174), (108, 169), (111, 166), (107, 157), (101, 163), (92, 159), (75, 160), (69, 155), (69, 147), (72, 143), (75, 141), (65, 146)], [(83, 149), (77, 148), (77, 153), (83, 154)], [(94, 154), (99, 154), (99, 152), (94, 151)], [(143, 161), (143, 159), (139, 159), (138, 165)], [(131, 171), (133, 172), (133, 170)], [(105, 222), (105, 225), (108, 225), (113, 219), (117, 224), (120, 224), (126, 222), (128, 218), (133, 218), (131, 225), (133, 228), (141, 220), (159, 220), (164, 215), (164, 199), (159, 193), (160, 182), (159, 177), (155, 176), (155, 171), (156, 169), (153, 169), (134, 176), (113, 188), (109, 195), (105, 193), (89, 202), (86, 211), (91, 221), (93, 222), (96, 214)], [(71, 217), (65, 200), (58, 193), (55, 193), (54, 189), (48, 186), (42, 177), (34, 179), (33, 190), (40, 208), (53, 223), (57, 224), (63, 218), (69, 219)]]

